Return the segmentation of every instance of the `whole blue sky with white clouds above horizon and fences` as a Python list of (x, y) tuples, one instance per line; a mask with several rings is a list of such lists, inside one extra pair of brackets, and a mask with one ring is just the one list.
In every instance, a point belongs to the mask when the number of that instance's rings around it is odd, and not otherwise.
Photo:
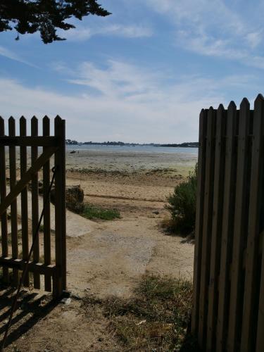
[(201, 108), (263, 93), (264, 1), (101, 0), (64, 42), (0, 34), (0, 113), (79, 141), (198, 139)]

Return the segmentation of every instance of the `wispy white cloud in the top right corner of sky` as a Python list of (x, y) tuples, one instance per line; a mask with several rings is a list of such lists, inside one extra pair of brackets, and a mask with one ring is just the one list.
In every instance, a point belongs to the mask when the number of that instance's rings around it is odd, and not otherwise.
[(175, 25), (175, 44), (203, 56), (264, 68), (263, 27), (223, 0), (146, 0)]

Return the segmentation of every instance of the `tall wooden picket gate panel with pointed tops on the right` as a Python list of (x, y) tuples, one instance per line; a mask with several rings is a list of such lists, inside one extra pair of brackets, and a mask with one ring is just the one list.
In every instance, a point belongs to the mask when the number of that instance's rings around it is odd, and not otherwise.
[(201, 111), (192, 333), (264, 351), (264, 98)]

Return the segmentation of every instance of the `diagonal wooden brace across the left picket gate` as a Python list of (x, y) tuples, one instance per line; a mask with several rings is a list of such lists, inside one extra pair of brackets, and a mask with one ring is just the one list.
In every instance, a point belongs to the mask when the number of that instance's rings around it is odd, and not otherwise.
[(13, 191), (11, 191), (3, 201), (1, 200), (0, 215), (2, 215), (6, 211), (6, 208), (11, 205), (13, 199), (15, 199), (18, 194), (20, 194), (22, 189), (26, 187), (28, 182), (32, 180), (32, 177), (34, 176), (35, 172), (39, 171), (42, 168), (44, 163), (46, 163), (46, 161), (51, 158), (51, 156), (56, 152), (57, 149), (57, 147), (49, 147), (49, 149), (46, 149), (46, 151), (44, 151), (39, 156), (39, 158), (37, 158), (37, 160), (34, 162), (34, 165), (32, 165), (32, 167), (29, 168), (27, 172), (25, 172), (23, 178), (19, 180), (17, 184), (15, 184), (15, 187), (13, 187)]

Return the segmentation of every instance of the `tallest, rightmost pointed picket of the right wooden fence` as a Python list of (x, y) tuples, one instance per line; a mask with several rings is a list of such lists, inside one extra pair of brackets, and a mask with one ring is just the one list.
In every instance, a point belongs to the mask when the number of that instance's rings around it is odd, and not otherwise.
[[(251, 185), (249, 198), (249, 230), (246, 245), (246, 270), (244, 291), (244, 313), (241, 334), (241, 351), (254, 351), (256, 343), (258, 301), (258, 247), (260, 229), (260, 204), (263, 201), (264, 160), (264, 98), (258, 95), (254, 106), (253, 145), (251, 162)], [(263, 215), (262, 215), (263, 216)], [(263, 329), (264, 334), (264, 329)], [(264, 348), (264, 345), (263, 345)]]

